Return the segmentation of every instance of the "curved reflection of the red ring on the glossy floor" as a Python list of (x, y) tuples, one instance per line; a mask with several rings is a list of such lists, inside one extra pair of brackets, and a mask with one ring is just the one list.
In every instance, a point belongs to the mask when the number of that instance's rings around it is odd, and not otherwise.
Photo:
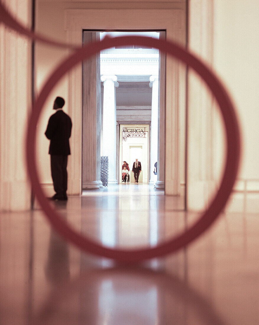
[(53, 290), (34, 315), (41, 324), (226, 324), (177, 277), (146, 268), (94, 269)]

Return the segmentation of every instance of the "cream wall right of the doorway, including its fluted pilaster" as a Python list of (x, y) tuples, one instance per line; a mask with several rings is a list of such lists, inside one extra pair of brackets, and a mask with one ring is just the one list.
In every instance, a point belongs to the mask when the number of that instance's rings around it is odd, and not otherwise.
[[(231, 211), (244, 211), (248, 203), (250, 212), (259, 209), (258, 9), (256, 0), (189, 1), (189, 48), (226, 85), (240, 123), (243, 152)], [(188, 203), (201, 209), (219, 184), (225, 135), (213, 98), (192, 73), (189, 83)]]

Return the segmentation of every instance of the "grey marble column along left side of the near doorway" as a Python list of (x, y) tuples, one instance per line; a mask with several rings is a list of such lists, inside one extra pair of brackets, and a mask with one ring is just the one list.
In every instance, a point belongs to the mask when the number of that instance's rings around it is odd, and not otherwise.
[[(99, 32), (84, 32), (84, 45), (100, 40)], [(83, 146), (82, 146), (82, 188), (103, 188), (101, 172), (101, 91), (100, 55), (83, 62)]]

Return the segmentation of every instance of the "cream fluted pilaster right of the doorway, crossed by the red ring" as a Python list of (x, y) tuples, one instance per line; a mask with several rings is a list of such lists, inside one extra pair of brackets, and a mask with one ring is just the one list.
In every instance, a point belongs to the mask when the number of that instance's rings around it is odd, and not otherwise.
[[(212, 65), (213, 2), (189, 2), (189, 48)], [(188, 73), (187, 208), (206, 208), (213, 193), (213, 98), (197, 75)]]

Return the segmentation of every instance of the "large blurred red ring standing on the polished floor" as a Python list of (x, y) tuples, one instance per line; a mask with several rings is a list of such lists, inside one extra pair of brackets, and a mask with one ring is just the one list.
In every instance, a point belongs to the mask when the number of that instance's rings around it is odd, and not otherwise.
[[(103, 49), (116, 45), (133, 44), (155, 47), (160, 51), (167, 53), (167, 55), (171, 55), (186, 63), (203, 78), (205, 83), (211, 89), (211, 92), (214, 94), (222, 112), (226, 130), (227, 157), (220, 188), (214, 199), (211, 201), (208, 209), (201, 215), (193, 226), (188, 228), (183, 233), (180, 233), (173, 239), (158, 244), (155, 247), (126, 250), (108, 248), (80, 235), (73, 230), (53, 209), (39, 184), (38, 173), (35, 165), (35, 133), (37, 121), (46, 98), (48, 97), (51, 89), (66, 72), (68, 72), (76, 64), (80, 63), (82, 60), (90, 58)], [(134, 263), (175, 252), (197, 238), (209, 226), (211, 226), (224, 208), (231, 193), (238, 172), (240, 158), (240, 135), (235, 110), (220, 80), (204, 63), (202, 63), (193, 54), (187, 52), (180, 45), (173, 42), (143, 36), (123, 36), (115, 38), (106, 37), (101, 42), (93, 42), (77, 50), (68, 59), (64, 60), (63, 63), (61, 63), (61, 65), (49, 77), (48, 81), (42, 88), (41, 93), (34, 102), (32, 114), (28, 124), (26, 144), (27, 170), (31, 179), (32, 188), (51, 225), (60, 235), (84, 251), (125, 263)]]

